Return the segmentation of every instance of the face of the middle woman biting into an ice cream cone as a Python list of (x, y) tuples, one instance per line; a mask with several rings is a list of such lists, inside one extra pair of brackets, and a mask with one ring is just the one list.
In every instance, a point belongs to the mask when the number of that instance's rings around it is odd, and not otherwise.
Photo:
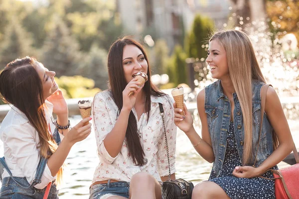
[(127, 84), (138, 72), (148, 72), (148, 62), (143, 52), (135, 45), (126, 45), (123, 50), (123, 68)]

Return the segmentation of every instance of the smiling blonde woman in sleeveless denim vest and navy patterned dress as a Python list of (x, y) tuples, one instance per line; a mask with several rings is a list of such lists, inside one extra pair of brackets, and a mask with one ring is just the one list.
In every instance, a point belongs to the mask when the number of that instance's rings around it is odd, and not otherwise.
[(238, 30), (215, 33), (209, 41), (206, 62), (218, 81), (197, 96), (202, 138), (195, 132), (186, 107), (185, 118), (175, 108), (175, 124), (196, 151), (213, 163), (209, 180), (195, 186), (192, 199), (275, 199), (274, 181), (259, 176), (273, 178), (266, 171), (278, 169), (276, 165), (294, 145), (272, 87), (266, 95), (259, 142), (261, 89), (266, 81), (248, 36)]

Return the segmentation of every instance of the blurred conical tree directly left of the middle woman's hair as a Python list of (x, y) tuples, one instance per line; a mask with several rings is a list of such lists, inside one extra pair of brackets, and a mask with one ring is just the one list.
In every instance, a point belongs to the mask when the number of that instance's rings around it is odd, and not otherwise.
[(94, 44), (80, 71), (80, 74), (95, 81), (95, 87), (106, 90), (108, 82), (107, 51)]

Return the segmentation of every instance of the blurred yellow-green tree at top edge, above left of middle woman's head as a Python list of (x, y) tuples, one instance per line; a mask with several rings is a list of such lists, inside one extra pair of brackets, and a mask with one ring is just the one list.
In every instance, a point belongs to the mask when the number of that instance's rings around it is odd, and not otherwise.
[(109, 49), (112, 42), (123, 32), (115, 0), (79, 1), (72, 1), (72, 7), (66, 9), (66, 20), (78, 39), (81, 50), (89, 52), (93, 43)]

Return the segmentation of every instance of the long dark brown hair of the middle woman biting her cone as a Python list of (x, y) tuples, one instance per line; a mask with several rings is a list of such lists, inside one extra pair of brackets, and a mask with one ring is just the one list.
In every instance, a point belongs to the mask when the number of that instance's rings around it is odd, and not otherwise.
[[(142, 53), (145, 56), (145, 59), (148, 62), (147, 75), (149, 77), (149, 80), (145, 83), (143, 91), (146, 95), (145, 110), (147, 112), (148, 121), (149, 121), (149, 111), (150, 111), (150, 103), (151, 103), (150, 96), (151, 95), (163, 96), (165, 94), (159, 91), (158, 88), (154, 86), (150, 81), (149, 60), (142, 44), (129, 37), (118, 39), (111, 45), (109, 49), (107, 65), (108, 65), (108, 75), (109, 75), (109, 87), (111, 90), (111, 94), (113, 100), (115, 101), (120, 111), (123, 107), (123, 91), (127, 86), (127, 82), (124, 74), (124, 68), (123, 68), (123, 50), (126, 45), (135, 45), (136, 47), (138, 47), (142, 51)], [(132, 155), (134, 164), (143, 166), (145, 153), (142, 148), (140, 139), (138, 137), (137, 120), (132, 110), (129, 116), (126, 138), (128, 142), (129, 152)]]

